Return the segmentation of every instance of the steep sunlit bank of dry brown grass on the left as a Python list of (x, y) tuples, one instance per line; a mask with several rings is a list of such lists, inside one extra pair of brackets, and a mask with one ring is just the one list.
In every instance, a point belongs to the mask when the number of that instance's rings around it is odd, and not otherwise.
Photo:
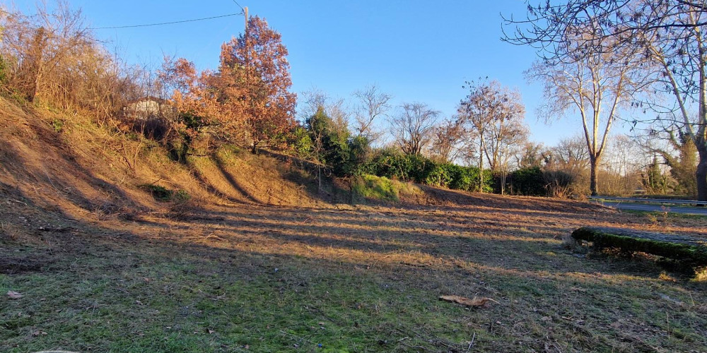
[(124, 215), (168, 206), (156, 202), (141, 187), (146, 185), (182, 190), (195, 206), (320, 202), (310, 195), (314, 179), (305, 169), (232, 146), (174, 162), (139, 134), (1, 99), (0, 126), (0, 183), (66, 215)]

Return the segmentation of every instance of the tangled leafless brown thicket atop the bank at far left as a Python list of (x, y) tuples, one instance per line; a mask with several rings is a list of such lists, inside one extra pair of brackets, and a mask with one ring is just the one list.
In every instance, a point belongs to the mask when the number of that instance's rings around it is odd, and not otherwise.
[(66, 1), (53, 8), (38, 6), (31, 16), (0, 8), (0, 89), (91, 112), (102, 124), (136, 87), (86, 28), (81, 11)]

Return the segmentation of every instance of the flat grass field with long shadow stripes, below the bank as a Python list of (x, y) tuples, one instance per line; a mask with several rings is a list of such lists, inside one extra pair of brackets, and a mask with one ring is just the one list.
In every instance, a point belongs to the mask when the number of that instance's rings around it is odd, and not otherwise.
[(0, 351), (705, 351), (705, 282), (563, 246), (583, 225), (696, 233), (704, 217), (464, 200), (100, 222), (20, 206), (0, 233)]

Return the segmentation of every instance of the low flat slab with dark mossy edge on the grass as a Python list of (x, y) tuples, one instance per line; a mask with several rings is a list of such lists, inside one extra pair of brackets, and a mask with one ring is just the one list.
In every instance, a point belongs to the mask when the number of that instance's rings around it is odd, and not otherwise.
[(643, 232), (609, 227), (582, 227), (572, 232), (576, 241), (591, 241), (597, 249), (639, 251), (689, 264), (707, 266), (707, 238)]

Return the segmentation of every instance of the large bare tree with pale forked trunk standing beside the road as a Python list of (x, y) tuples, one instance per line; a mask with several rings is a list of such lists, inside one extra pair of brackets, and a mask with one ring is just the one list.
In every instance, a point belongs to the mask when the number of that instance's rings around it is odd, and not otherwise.
[[(580, 40), (592, 37), (577, 29)], [(571, 38), (567, 38), (571, 41)], [(607, 47), (611, 44), (605, 43)], [(597, 195), (597, 167), (614, 121), (630, 107), (636, 95), (650, 87), (643, 58), (635, 48), (615, 49), (538, 61), (526, 72), (531, 81), (544, 83), (545, 104), (539, 115), (546, 121), (578, 114), (590, 157), (590, 191)]]

